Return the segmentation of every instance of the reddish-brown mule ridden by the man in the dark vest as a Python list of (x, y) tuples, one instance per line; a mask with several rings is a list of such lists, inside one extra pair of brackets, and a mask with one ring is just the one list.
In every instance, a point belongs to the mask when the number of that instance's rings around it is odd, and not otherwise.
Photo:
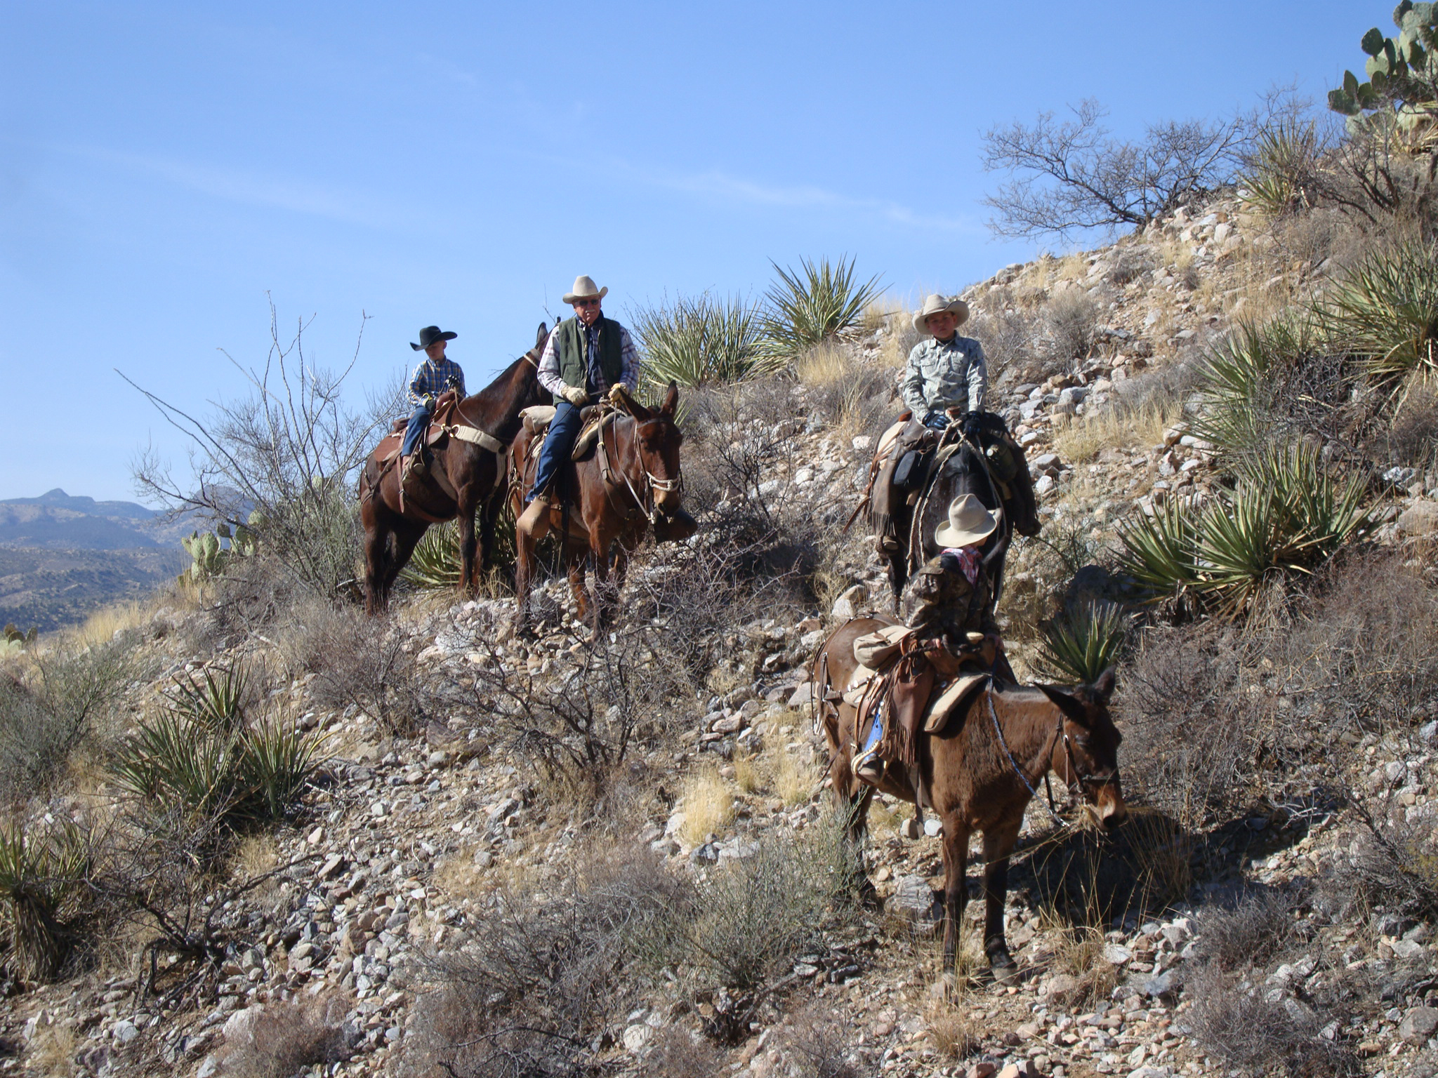
[[(592, 630), (597, 635), (607, 614), (604, 602), (610, 584), (610, 550), (615, 550), (617, 585), (623, 586), (630, 552), (649, 533), (659, 515), (680, 506), (679, 446), (683, 436), (674, 423), (679, 387), (669, 392), (659, 408), (646, 408), (624, 398), (628, 414), (605, 424), (595, 446), (577, 461), (564, 461), (555, 479), (554, 507), (533, 533), (515, 529), (515, 625), (523, 628), (528, 617), (529, 582), (533, 575), (535, 545), (549, 529), (564, 535), (569, 585), (580, 607), (587, 611), (584, 592), (585, 563), (594, 569)], [(533, 470), (542, 440), (532, 444), (521, 431), (510, 446), (513, 479), (509, 499), (516, 519), (523, 510), (523, 496), (533, 483)]]

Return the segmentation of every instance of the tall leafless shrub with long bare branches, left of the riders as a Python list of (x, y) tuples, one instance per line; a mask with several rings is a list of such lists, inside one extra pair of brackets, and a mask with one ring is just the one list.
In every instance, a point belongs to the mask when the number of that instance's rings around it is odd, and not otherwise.
[(198, 510), (232, 528), (249, 526), (290, 578), (332, 595), (354, 575), (354, 483), (378, 433), (397, 414), (398, 392), (372, 397), (358, 410), (344, 400), (364, 321), (355, 354), (338, 372), (306, 358), (305, 328), (301, 322), (285, 341), (270, 303), (270, 348), (262, 367), (244, 367), (220, 349), (244, 374), (250, 395), (211, 402), (213, 413), (203, 418), (118, 374), (190, 441), (193, 480), (175, 476), (150, 448), (134, 467), (141, 496), (177, 513)]

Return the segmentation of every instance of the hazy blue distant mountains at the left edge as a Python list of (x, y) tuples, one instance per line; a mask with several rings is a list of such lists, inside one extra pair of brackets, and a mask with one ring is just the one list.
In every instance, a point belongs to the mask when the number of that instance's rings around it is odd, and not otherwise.
[(46, 632), (142, 598), (190, 563), (180, 538), (196, 528), (188, 516), (59, 487), (0, 500), (0, 622)]

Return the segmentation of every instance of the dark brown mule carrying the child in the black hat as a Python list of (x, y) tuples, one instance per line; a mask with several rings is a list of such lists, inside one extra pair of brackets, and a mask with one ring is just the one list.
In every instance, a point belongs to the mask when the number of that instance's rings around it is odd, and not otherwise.
[[(459, 519), (460, 594), (473, 594), (479, 582), (475, 572), (476, 548), (480, 573), (489, 569), (495, 520), (503, 506), (500, 493), (508, 479), (503, 447), (519, 431), (519, 413), (551, 400), (549, 391), (536, 378), (539, 354), (548, 338), (548, 328), (541, 322), (532, 349), (477, 394), (459, 401), (457, 414), (449, 421), (456, 427), (483, 431), (502, 448), (496, 453), (473, 441), (446, 436), (433, 450), (430, 471), (443, 474), (453, 496), (434, 479), (424, 483), (411, 480), (410, 487), (420, 490), (406, 490), (401, 510), (398, 461), (385, 461), (394, 448), (395, 434), (381, 441), (365, 460), (360, 476), (360, 519), (365, 533), (365, 608), (371, 614), (378, 614), (388, 605), (390, 589), (400, 569), (410, 561), (414, 545), (431, 523)], [(483, 516), (476, 536), (475, 512), (479, 509), (483, 509)]]

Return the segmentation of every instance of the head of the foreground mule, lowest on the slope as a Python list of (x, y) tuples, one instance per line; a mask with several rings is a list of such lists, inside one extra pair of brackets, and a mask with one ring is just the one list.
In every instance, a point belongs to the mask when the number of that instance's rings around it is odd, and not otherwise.
[(1119, 782), (1123, 734), (1109, 714), (1113, 684), (1114, 673), (1109, 667), (1090, 686), (1040, 686), (1060, 713), (1060, 736), (1054, 739), (1051, 760), (1054, 773), (1097, 809), (1109, 831), (1129, 815)]

